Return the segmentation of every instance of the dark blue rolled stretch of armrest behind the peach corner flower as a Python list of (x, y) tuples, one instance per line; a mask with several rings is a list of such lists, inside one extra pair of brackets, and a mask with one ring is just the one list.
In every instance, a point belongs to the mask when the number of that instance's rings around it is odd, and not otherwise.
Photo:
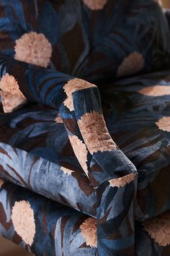
[[(63, 85), (72, 78), (68, 74), (17, 61), (8, 56), (0, 56), (0, 70), (1, 77), (5, 74), (14, 77), (25, 98), (54, 108), (63, 103), (66, 98)], [(10, 90), (11, 88), (6, 88), (6, 92), (10, 93)]]

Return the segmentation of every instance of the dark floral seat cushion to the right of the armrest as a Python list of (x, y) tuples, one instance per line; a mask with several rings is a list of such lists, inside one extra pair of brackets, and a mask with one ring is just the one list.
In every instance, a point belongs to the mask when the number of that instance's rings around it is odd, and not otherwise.
[(120, 80), (101, 93), (109, 133), (138, 170), (140, 221), (170, 209), (169, 73)]

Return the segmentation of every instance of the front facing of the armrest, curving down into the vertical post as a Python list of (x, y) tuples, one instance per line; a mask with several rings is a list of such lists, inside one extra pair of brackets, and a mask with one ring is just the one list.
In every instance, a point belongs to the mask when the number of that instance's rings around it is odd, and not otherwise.
[(60, 111), (73, 150), (96, 189), (99, 255), (135, 255), (136, 168), (109, 135), (98, 88), (79, 88)]

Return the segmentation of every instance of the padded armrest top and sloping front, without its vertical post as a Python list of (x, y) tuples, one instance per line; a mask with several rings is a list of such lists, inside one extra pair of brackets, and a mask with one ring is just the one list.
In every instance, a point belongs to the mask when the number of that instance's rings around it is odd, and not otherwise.
[[(78, 139), (80, 137), (84, 143), (83, 147), (86, 147), (86, 152), (91, 155), (100, 168), (99, 171), (94, 172), (88, 171), (88, 166), (86, 166), (86, 170), (83, 167), (87, 176), (90, 175), (93, 179), (91, 182), (94, 187), (109, 179), (135, 174), (135, 166), (109, 135), (96, 85), (53, 69), (37, 67), (6, 56), (0, 56), (0, 71), (1, 77), (6, 73), (14, 77), (25, 98), (53, 106), (56, 109), (60, 108), (66, 127), (70, 120), (69, 118), (67, 121), (67, 115), (72, 115), (78, 133), (75, 132), (74, 136), (77, 135)], [(7, 85), (4, 90), (10, 92), (15, 88), (8, 88)], [(76, 137), (71, 135), (73, 133), (69, 131), (68, 137), (82, 166), (84, 163), (80, 159), (81, 155), (76, 152), (73, 141), (76, 140)]]

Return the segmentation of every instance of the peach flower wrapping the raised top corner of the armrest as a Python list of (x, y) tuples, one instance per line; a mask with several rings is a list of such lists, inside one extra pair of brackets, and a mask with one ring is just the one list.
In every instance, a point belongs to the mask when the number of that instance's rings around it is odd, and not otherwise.
[(68, 97), (66, 101), (64, 101), (64, 105), (70, 111), (73, 111), (74, 108), (73, 108), (72, 93), (76, 92), (76, 90), (84, 90), (86, 88), (94, 88), (94, 87), (97, 87), (97, 86), (79, 78), (73, 78), (72, 80), (69, 80), (66, 83), (66, 85), (63, 86), (63, 89)]

